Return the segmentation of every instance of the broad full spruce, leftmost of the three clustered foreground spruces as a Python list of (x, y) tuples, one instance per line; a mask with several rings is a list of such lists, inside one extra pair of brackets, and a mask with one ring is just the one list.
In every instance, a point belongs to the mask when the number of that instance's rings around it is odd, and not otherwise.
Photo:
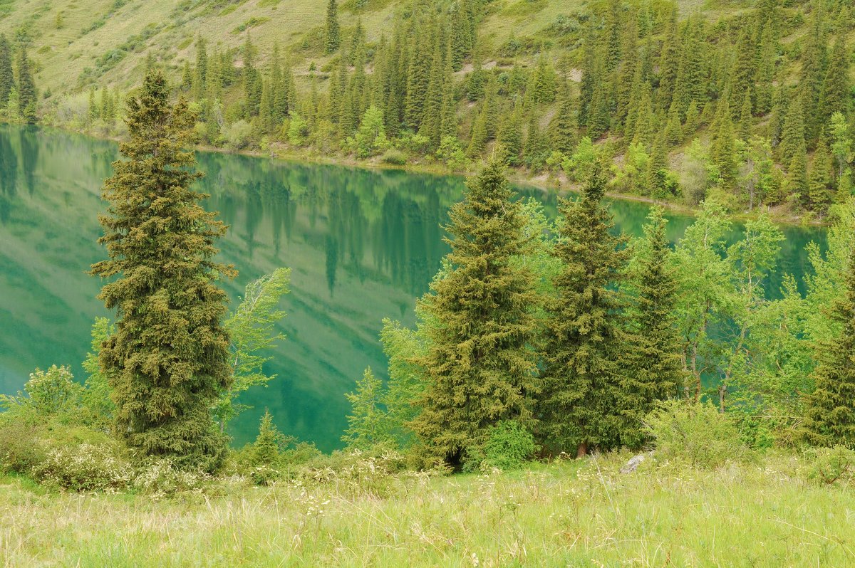
[(435, 325), (416, 361), (425, 390), (411, 426), (430, 454), (452, 465), (478, 455), (499, 421), (533, 422), (538, 296), (532, 272), (515, 261), (532, 237), (503, 170), (490, 161), (451, 207), (448, 270), (420, 302)]

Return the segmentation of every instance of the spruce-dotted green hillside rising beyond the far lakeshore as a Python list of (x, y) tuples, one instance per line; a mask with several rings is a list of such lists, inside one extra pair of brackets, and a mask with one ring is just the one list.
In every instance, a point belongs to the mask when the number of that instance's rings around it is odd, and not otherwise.
[(3, 113), (121, 135), (121, 94), (159, 65), (212, 146), (455, 171), (498, 149), (549, 184), (580, 183), (599, 155), (613, 191), (822, 216), (852, 192), (850, 10), (7, 0), (8, 61), (27, 50), (38, 97), (9, 91)]

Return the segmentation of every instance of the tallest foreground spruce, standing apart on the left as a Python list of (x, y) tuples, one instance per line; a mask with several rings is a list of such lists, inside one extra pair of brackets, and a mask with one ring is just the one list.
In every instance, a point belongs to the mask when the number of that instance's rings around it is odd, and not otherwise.
[(210, 407), (227, 388), (229, 338), (221, 325), (227, 296), (216, 281), (234, 275), (215, 262), (226, 226), (205, 212), (192, 190), (192, 113), (169, 102), (159, 70), (127, 101), (127, 160), (113, 162), (99, 217), (108, 261), (91, 273), (109, 278), (101, 298), (116, 310), (116, 331), (100, 365), (115, 401), (115, 434), (144, 454), (181, 467), (215, 471), (225, 440)]

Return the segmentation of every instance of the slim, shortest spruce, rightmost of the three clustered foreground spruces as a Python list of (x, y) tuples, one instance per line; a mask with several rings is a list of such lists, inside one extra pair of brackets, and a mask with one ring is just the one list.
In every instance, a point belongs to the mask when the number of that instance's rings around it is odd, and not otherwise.
[(630, 343), (626, 349), (626, 385), (629, 403), (627, 430), (622, 442), (638, 447), (644, 436), (642, 420), (656, 401), (679, 395), (684, 373), (681, 341), (675, 327), (677, 273), (671, 266), (672, 255), (662, 206), (651, 208), (645, 238), (640, 243), (633, 271), (635, 302), (630, 314)]

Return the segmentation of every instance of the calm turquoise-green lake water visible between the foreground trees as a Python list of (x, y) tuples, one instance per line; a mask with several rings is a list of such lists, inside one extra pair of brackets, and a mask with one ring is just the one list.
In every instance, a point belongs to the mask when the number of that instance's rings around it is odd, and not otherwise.
[[(55, 130), (0, 124), (0, 392), (11, 393), (35, 367), (72, 366), (90, 343), (91, 322), (107, 316), (96, 299), (97, 278), (85, 274), (105, 258), (96, 243), (103, 179), (118, 158), (115, 143)], [(292, 292), (282, 302), (286, 334), (266, 368), (267, 389), (245, 395), (254, 406), (233, 427), (235, 442), (255, 435), (267, 407), (280, 428), (330, 450), (341, 444), (350, 407), (344, 393), (371, 366), (383, 376), (380, 320), (414, 323), (417, 296), (447, 252), (441, 223), (460, 200), (463, 179), (398, 171), (298, 164), (239, 155), (198, 153), (207, 175), (206, 208), (231, 225), (221, 260), (239, 278), (227, 285), (237, 300), (251, 279), (275, 267), (292, 269)], [(556, 213), (556, 197), (540, 190)], [(648, 206), (612, 205), (618, 227), (641, 233)], [(669, 237), (691, 218), (670, 215)], [(799, 280), (805, 244), (824, 244), (824, 231), (787, 226), (778, 272)], [(738, 233), (734, 231), (734, 238)]]

